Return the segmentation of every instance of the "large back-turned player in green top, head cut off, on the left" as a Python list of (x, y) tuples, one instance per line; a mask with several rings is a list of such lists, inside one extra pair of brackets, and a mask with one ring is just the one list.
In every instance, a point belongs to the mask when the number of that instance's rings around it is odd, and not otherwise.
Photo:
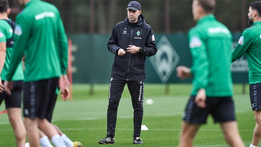
[(23, 116), (29, 143), (40, 146), (39, 128), (55, 146), (65, 146), (56, 128), (46, 119), (58, 84), (62, 93), (69, 84), (68, 41), (61, 16), (54, 5), (40, 0), (19, 3), (25, 7), (16, 17), (14, 54), (5, 91), (11, 94), (11, 80), (24, 55)]

